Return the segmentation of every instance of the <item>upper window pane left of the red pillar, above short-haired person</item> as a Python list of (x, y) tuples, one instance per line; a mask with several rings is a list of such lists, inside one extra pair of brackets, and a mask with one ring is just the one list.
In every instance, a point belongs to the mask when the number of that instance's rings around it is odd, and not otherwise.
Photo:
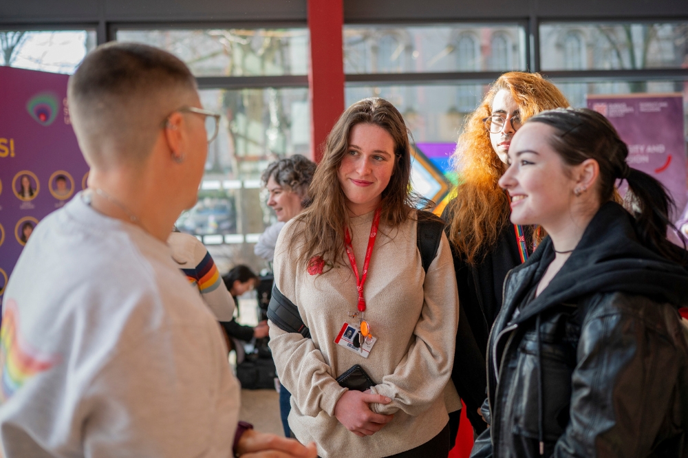
[(305, 75), (308, 29), (127, 30), (118, 41), (146, 43), (175, 54), (196, 76)]

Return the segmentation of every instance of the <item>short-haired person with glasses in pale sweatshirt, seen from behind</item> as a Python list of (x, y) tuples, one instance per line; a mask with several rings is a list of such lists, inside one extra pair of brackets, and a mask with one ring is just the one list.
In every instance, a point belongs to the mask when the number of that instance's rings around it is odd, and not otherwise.
[(314, 458), (238, 423), (217, 321), (165, 243), (217, 133), (189, 68), (108, 43), (67, 98), (89, 188), (36, 227), (4, 294), (1, 455)]

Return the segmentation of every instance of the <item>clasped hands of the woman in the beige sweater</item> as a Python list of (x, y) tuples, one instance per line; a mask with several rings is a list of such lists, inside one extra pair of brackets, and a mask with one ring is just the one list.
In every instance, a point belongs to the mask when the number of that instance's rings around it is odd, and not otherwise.
[(376, 395), (366, 391), (346, 391), (334, 406), (334, 416), (348, 430), (364, 437), (374, 435), (385, 424), (391, 422), (394, 415), (382, 415), (370, 410), (369, 404), (389, 404), (391, 399), (387, 396)]

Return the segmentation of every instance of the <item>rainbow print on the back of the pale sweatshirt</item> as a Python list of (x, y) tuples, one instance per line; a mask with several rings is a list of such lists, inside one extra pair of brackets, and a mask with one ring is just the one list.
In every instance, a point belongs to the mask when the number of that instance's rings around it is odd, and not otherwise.
[(0, 329), (0, 404), (36, 374), (53, 367), (54, 358), (40, 356), (19, 334), (17, 303), (10, 299)]

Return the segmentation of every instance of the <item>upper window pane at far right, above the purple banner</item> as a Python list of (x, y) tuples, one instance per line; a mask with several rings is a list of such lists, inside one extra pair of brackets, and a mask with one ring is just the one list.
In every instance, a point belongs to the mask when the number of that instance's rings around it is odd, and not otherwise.
[(543, 70), (688, 67), (688, 23), (542, 23)]

